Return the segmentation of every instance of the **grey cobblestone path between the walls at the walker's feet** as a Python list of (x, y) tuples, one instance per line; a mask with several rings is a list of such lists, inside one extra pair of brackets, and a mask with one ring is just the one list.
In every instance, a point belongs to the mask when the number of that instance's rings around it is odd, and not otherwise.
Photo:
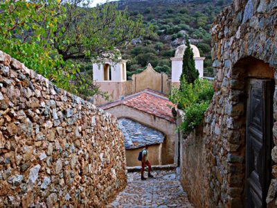
[(193, 208), (177, 180), (176, 171), (153, 171), (152, 175), (154, 179), (143, 181), (140, 173), (128, 173), (127, 187), (107, 207)]

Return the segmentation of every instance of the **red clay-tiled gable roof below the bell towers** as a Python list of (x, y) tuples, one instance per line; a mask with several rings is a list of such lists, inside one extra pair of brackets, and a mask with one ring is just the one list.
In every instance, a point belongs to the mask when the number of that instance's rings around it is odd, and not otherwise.
[(145, 89), (142, 92), (126, 96), (121, 101), (101, 105), (100, 108), (107, 110), (117, 105), (126, 105), (141, 112), (152, 114), (161, 119), (166, 119), (172, 123), (175, 123), (175, 118), (172, 115), (170, 107), (168, 107), (168, 105), (173, 104), (168, 100), (166, 94), (152, 89)]

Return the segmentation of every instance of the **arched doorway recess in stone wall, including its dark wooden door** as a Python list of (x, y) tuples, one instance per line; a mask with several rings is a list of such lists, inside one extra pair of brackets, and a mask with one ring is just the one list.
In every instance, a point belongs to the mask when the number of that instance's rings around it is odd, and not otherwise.
[[(244, 172), (232, 177), (242, 178), (244, 190), (240, 192), (240, 198), (244, 207), (266, 207), (271, 179), (274, 69), (249, 57), (234, 65), (231, 76), (235, 78), (231, 88), (240, 98), (233, 102), (244, 106), (244, 110), (240, 108), (240, 116), (234, 117), (238, 127), (241, 125), (241, 147), (233, 155), (242, 157), (241, 168), (245, 168)], [(238, 91), (241, 87), (244, 87), (243, 91)]]

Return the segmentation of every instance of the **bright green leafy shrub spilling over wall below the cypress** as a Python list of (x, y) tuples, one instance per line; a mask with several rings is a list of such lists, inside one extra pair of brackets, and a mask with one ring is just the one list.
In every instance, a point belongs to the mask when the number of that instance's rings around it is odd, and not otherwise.
[(202, 122), (204, 112), (213, 98), (213, 85), (201, 78), (189, 84), (184, 77), (180, 85), (180, 89), (172, 88), (169, 99), (184, 111), (183, 122), (178, 129), (188, 134)]

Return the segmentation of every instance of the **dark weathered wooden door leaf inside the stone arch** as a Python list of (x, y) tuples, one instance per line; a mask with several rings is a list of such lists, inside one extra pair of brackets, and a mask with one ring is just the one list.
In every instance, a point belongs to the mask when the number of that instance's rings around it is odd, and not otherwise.
[(271, 178), (273, 80), (249, 79), (247, 100), (246, 203), (266, 207)]

